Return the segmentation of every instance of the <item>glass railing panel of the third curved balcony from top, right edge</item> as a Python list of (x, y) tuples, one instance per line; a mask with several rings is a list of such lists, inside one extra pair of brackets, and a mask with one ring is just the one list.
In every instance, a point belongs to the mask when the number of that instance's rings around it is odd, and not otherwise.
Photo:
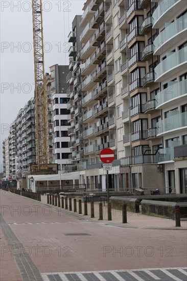
[(166, 53), (167, 58), (155, 67), (155, 80), (161, 75), (187, 61), (187, 46), (177, 52)]

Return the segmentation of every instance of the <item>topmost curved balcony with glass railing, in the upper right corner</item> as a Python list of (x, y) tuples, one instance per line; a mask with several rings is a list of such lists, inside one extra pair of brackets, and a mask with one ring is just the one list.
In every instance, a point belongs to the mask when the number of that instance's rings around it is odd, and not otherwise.
[(183, 0), (163, 0), (153, 13), (153, 28), (160, 28), (165, 22), (169, 22), (183, 8)]

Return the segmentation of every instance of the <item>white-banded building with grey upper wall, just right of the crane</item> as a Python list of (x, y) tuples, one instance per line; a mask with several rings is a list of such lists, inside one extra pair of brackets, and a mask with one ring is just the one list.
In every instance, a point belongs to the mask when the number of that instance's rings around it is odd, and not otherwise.
[(57, 163), (58, 170), (64, 171), (69, 165), (68, 148), (69, 136), (67, 134), (67, 65), (55, 64), (50, 67), (50, 74), (45, 74), (46, 85), (46, 121), (48, 135), (48, 162)]

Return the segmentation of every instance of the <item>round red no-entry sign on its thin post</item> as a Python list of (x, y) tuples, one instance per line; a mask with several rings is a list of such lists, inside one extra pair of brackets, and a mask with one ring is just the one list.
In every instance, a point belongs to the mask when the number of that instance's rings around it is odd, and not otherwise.
[[(103, 164), (103, 169), (106, 171), (106, 186), (107, 186), (107, 202), (109, 203), (109, 180), (108, 180), (108, 171), (111, 170), (110, 163), (114, 160), (113, 150), (110, 148), (104, 148), (100, 152), (100, 160), (105, 163)], [(109, 165), (108, 165), (109, 164)]]

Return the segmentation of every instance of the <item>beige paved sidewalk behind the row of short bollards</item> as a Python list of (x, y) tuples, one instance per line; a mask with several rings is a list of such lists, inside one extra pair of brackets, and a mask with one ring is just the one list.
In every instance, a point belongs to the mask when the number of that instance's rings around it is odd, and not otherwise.
[[(41, 202), (47, 203), (47, 196), (41, 196)], [(65, 200), (64, 200), (65, 202)], [(67, 201), (69, 204), (69, 200)], [(64, 203), (65, 206), (65, 203)], [(58, 208), (58, 207), (55, 207)], [(65, 208), (64, 208), (65, 209)], [(68, 205), (69, 209), (69, 205)], [(78, 216), (80, 218), (89, 219), (92, 221), (99, 221), (99, 202), (94, 203), (95, 218), (90, 215), (90, 203), (87, 203), (88, 215), (84, 216), (84, 203), (82, 203), (82, 214), (79, 214), (79, 205), (77, 201), (77, 213), (74, 213), (74, 202), (72, 200), (73, 211), (68, 211), (69, 214)], [(142, 213), (127, 212), (127, 223), (122, 223), (122, 210), (112, 209), (112, 221), (108, 221), (107, 204), (103, 204), (103, 221), (112, 224), (121, 225), (122, 227), (131, 228), (160, 228), (160, 229), (187, 229), (187, 221), (180, 221), (180, 227), (175, 226), (175, 220), (159, 218), (154, 216), (142, 215)]]

